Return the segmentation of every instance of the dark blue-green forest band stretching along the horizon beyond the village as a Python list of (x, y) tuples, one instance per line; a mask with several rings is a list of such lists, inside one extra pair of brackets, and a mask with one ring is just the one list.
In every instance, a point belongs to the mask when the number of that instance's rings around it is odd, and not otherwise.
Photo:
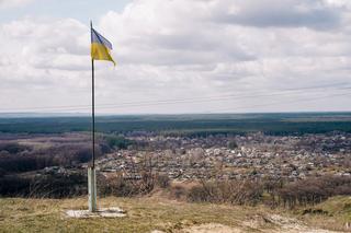
[[(91, 130), (88, 116), (0, 117), (3, 133), (63, 133)], [(207, 136), (215, 133), (303, 135), (329, 131), (351, 132), (351, 113), (301, 114), (208, 114), (98, 116), (100, 132), (136, 131), (165, 135)]]

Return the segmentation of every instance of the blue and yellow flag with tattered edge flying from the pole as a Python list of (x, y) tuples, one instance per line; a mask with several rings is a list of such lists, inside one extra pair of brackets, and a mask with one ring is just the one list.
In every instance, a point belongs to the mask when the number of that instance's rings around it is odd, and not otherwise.
[(91, 27), (91, 59), (110, 60), (116, 66), (111, 56), (112, 44)]

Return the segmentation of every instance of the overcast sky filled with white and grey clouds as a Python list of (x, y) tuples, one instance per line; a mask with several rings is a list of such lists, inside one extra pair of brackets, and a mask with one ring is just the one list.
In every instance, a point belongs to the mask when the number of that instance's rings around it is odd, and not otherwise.
[(351, 110), (350, 0), (0, 0), (0, 112)]

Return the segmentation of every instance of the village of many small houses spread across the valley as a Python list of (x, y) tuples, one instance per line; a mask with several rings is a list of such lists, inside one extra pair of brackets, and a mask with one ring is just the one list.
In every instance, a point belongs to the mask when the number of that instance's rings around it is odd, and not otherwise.
[(150, 171), (172, 180), (259, 179), (288, 180), (309, 176), (351, 175), (351, 135), (208, 136), (204, 138), (133, 136), (147, 144), (116, 150), (98, 160), (105, 176), (140, 179)]

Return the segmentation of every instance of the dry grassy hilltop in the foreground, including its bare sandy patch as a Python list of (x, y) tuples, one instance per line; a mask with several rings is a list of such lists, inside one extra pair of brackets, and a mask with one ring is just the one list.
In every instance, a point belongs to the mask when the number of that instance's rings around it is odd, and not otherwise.
[[(263, 207), (186, 203), (156, 198), (111, 197), (99, 201), (101, 207), (123, 208), (127, 217), (68, 219), (65, 210), (86, 209), (84, 198), (0, 199), (0, 232), (328, 232), (306, 225), (286, 210), (273, 211)], [(320, 225), (330, 217), (303, 218), (307, 222), (313, 220), (309, 224)]]

